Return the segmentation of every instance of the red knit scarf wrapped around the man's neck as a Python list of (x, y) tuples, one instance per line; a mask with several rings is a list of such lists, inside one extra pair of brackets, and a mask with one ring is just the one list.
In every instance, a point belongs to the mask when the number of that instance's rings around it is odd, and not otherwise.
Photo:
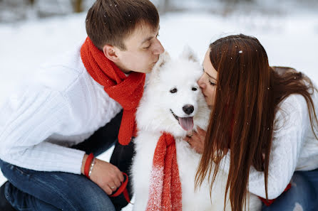
[(125, 74), (98, 50), (90, 38), (81, 47), (81, 58), (88, 73), (96, 82), (104, 87), (109, 97), (115, 99), (123, 107), (118, 141), (127, 145), (136, 133), (135, 112), (145, 84), (145, 74), (130, 72)]

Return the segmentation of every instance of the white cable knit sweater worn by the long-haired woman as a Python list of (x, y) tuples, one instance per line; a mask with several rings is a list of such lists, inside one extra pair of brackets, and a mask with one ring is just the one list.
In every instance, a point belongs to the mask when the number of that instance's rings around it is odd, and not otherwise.
[[(312, 95), (318, 112), (317, 93)], [(314, 137), (309, 120), (307, 103), (300, 94), (292, 94), (279, 104), (270, 153), (268, 173), (268, 198), (277, 198), (290, 182), (294, 171), (310, 171), (318, 168), (318, 140)], [(317, 131), (316, 131), (316, 134)], [(230, 151), (221, 165), (228, 173)], [(249, 191), (265, 196), (264, 172), (250, 168)]]

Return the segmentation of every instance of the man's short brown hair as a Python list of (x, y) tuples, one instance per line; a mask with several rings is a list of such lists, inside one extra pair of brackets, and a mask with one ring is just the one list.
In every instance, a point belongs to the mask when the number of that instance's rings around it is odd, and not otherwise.
[(88, 37), (100, 50), (114, 45), (125, 50), (123, 41), (137, 26), (158, 28), (159, 14), (148, 0), (96, 0), (86, 16)]

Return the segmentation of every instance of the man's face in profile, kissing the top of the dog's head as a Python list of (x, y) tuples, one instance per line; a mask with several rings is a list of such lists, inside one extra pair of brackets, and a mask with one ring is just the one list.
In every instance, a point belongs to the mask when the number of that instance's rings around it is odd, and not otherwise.
[(147, 24), (139, 25), (124, 40), (125, 50), (115, 48), (118, 62), (116, 65), (125, 73), (130, 71), (148, 73), (158, 61), (159, 55), (165, 51), (158, 40), (157, 28), (151, 30)]

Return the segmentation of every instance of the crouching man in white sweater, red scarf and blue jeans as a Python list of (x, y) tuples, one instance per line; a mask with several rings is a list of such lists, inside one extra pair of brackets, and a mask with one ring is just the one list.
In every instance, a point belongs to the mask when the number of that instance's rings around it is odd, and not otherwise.
[[(8, 179), (1, 191), (16, 210), (124, 206), (108, 195), (130, 164), (145, 73), (164, 51), (158, 30), (148, 0), (97, 0), (83, 45), (30, 72), (1, 105), (0, 167)], [(119, 125), (116, 166), (94, 159), (116, 141)]]

